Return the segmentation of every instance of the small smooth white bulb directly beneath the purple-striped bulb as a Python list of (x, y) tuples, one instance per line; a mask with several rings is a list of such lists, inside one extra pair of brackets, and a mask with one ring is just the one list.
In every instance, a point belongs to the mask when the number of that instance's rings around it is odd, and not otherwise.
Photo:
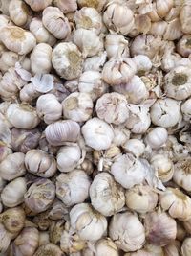
[(77, 144), (63, 146), (57, 152), (57, 169), (60, 172), (68, 173), (77, 167), (81, 158), (81, 149)]

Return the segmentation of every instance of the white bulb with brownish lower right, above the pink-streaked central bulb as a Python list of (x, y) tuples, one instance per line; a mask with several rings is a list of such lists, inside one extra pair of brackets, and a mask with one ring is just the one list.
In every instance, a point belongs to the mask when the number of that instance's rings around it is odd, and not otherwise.
[(78, 81), (78, 90), (81, 93), (88, 93), (93, 101), (107, 91), (107, 84), (102, 80), (98, 71), (85, 71)]

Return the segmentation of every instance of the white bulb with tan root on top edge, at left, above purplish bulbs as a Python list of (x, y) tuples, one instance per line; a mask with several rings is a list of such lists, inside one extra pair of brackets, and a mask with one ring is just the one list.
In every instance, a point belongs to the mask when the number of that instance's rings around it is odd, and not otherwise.
[(31, 129), (40, 123), (35, 108), (27, 104), (11, 104), (6, 116), (14, 128)]

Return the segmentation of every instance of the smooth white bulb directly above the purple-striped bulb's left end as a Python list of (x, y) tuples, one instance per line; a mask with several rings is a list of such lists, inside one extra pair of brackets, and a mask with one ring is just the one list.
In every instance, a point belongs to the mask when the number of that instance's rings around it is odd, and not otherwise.
[(49, 125), (61, 118), (62, 105), (53, 94), (48, 93), (38, 97), (36, 112), (38, 116), (44, 119), (44, 122)]

